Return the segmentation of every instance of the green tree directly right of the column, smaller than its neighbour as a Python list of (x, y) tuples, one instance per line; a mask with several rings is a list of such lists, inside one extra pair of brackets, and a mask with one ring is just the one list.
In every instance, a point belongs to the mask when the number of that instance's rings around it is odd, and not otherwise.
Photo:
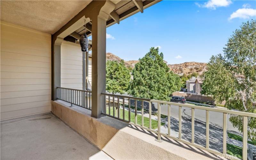
[(131, 79), (130, 71), (124, 66), (124, 60), (107, 61), (106, 64), (106, 90), (110, 93), (124, 94)]

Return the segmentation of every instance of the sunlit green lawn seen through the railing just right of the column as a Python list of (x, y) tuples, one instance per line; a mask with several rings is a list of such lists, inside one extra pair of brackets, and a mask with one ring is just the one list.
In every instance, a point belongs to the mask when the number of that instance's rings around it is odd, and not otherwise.
[[(126, 105), (125, 105), (126, 106)], [(107, 107), (107, 113), (108, 114), (108, 107)], [(115, 116), (117, 117), (117, 110), (115, 110)], [(113, 107), (110, 106), (110, 115), (113, 116)], [(120, 107), (120, 116), (121, 119), (123, 119), (123, 109)], [(125, 120), (129, 120), (129, 111), (124, 110), (124, 119)], [(131, 122), (135, 123), (135, 113), (131, 112)], [(137, 115), (137, 124), (141, 125), (141, 115)], [(148, 127), (149, 128), (149, 118), (148, 117), (144, 117), (144, 127)], [(161, 123), (161, 125), (163, 125), (163, 123)], [(157, 128), (157, 121), (152, 119), (151, 120), (151, 128), (152, 129), (156, 129)]]

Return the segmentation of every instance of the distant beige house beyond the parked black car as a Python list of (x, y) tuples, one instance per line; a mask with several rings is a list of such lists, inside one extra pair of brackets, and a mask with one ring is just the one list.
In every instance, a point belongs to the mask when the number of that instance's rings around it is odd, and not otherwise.
[(202, 79), (200, 77), (192, 77), (187, 82), (187, 92), (196, 93), (201, 95), (202, 91)]

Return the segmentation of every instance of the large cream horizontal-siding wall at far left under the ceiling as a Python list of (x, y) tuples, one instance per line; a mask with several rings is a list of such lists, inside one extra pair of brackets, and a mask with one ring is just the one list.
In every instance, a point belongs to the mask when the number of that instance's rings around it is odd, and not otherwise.
[(1, 21), (1, 120), (51, 111), (51, 35)]

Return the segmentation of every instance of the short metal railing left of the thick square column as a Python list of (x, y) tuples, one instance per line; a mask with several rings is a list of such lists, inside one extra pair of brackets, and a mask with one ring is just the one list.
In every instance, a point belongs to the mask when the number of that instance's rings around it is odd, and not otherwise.
[[(92, 109), (92, 91), (57, 87), (57, 99), (86, 109)], [(70, 106), (70, 107), (71, 107)]]

